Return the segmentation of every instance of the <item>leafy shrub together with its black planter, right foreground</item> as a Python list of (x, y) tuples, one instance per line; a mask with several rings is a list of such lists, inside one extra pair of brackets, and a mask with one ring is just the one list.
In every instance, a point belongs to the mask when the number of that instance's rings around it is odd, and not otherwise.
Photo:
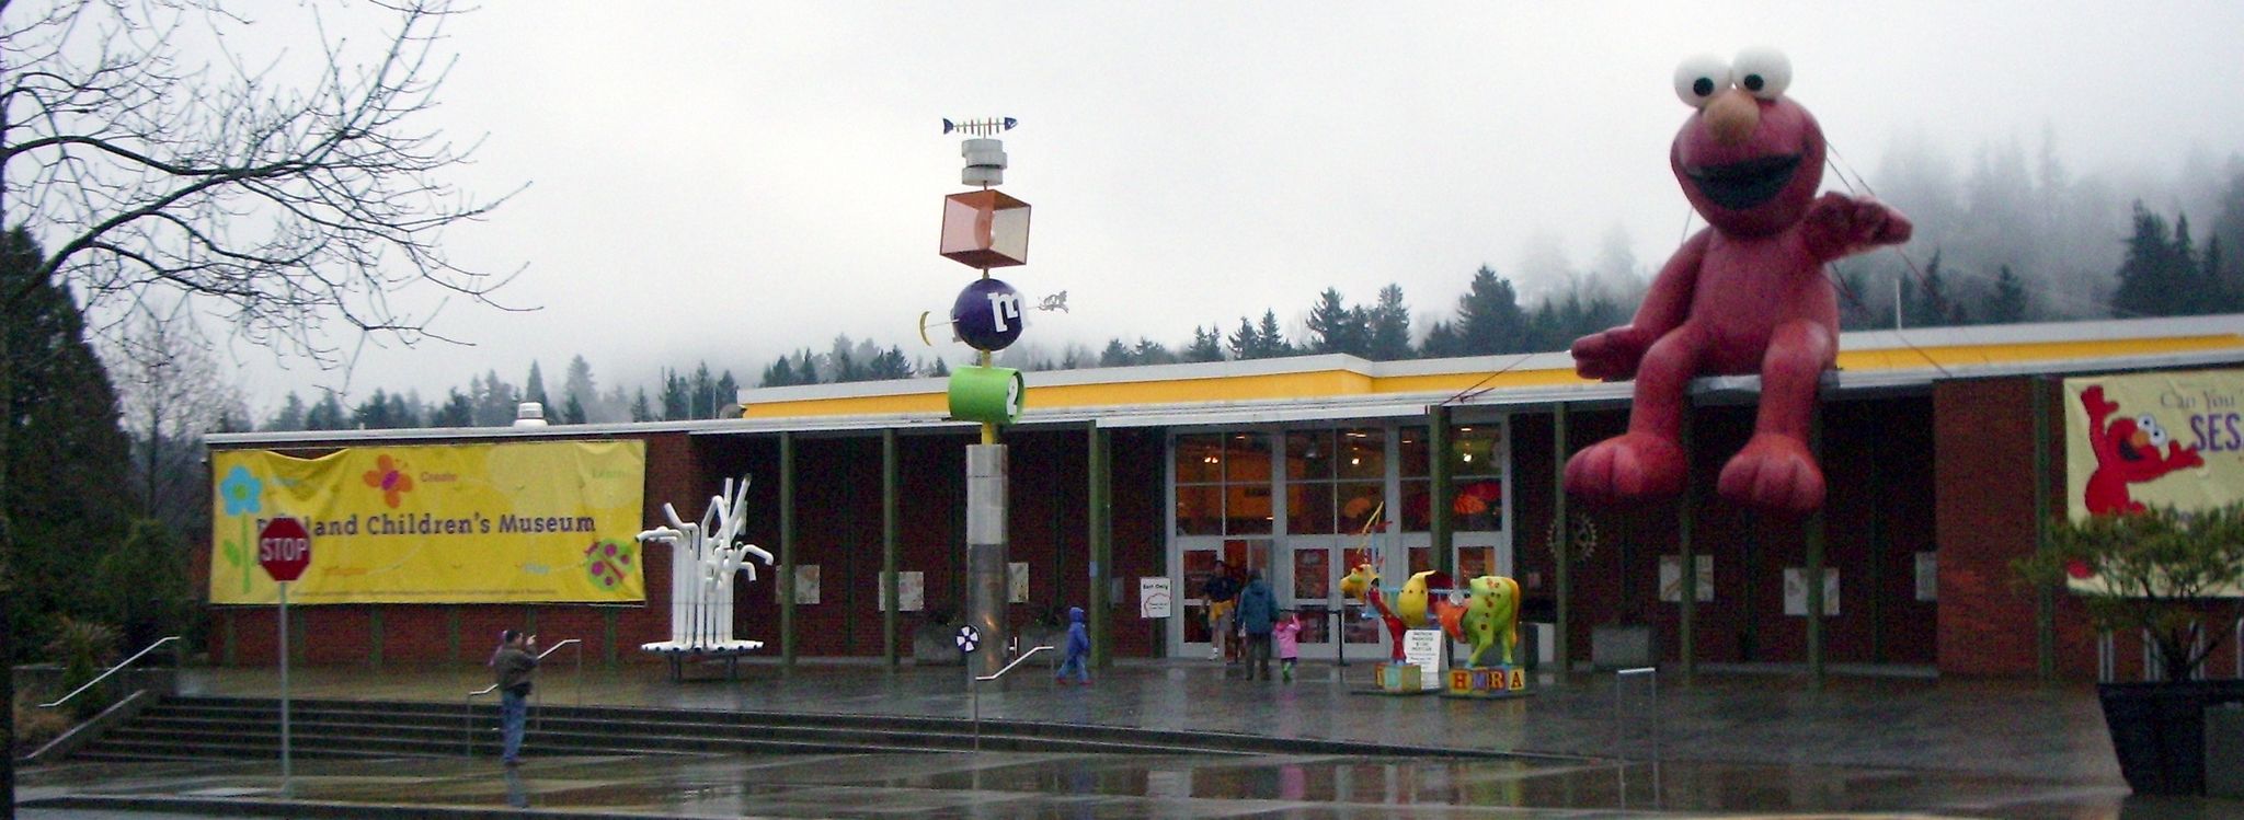
[(2112, 748), (2136, 793), (2204, 793), (2204, 710), (2244, 701), (2244, 681), (2192, 679), (2244, 616), (2244, 504), (2062, 522), (2013, 567), (2071, 587), (2096, 630), (2150, 639), (2159, 681), (2096, 686)]

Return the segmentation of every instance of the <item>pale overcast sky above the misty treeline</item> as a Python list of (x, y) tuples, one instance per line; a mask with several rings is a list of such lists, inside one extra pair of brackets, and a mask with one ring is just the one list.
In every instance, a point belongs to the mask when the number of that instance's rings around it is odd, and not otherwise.
[[(1023, 336), (1050, 350), (1180, 345), (1266, 307), (1297, 327), (1317, 289), (1387, 282), (1423, 332), (1474, 267), (1582, 267), (1616, 231), (1656, 267), (1687, 215), (1670, 76), (1701, 52), (1784, 49), (1833, 166), (1871, 186), (1905, 139), (1968, 168), (2053, 134), (2076, 175), (2168, 186), (2244, 150), (2244, 2), (610, 0), (489, 2), (447, 34), (429, 123), (485, 137), (456, 179), (530, 184), (451, 253), (527, 264), (500, 298), (541, 311), (451, 307), (435, 329), (473, 347), (368, 347), (352, 401), (532, 361), (552, 390), (572, 354), (601, 388), (700, 358), (754, 383), (835, 334), (958, 361), (913, 329), (974, 276), (936, 255), (965, 190), (945, 117), (1021, 123), (1003, 190), (1034, 206), (1030, 264), (999, 276), (1068, 291)], [(236, 356), (258, 417), (343, 383)]]

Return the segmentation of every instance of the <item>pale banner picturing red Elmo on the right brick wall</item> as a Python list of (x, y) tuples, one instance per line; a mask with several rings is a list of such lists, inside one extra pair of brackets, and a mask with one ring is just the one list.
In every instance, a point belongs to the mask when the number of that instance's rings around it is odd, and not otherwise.
[(2244, 500), (2244, 370), (2064, 379), (2073, 520)]

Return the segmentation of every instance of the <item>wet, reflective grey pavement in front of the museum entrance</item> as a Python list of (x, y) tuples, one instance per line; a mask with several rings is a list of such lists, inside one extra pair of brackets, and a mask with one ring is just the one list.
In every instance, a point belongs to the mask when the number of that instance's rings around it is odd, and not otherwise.
[[(554, 703), (967, 717), (958, 668), (806, 661), (743, 665), (741, 681), (669, 683), (662, 668), (543, 672)], [(1021, 670), (978, 697), (983, 719), (1189, 728), (1501, 751), (1519, 757), (1333, 755), (642, 755), (61, 764), (20, 773), (27, 818), (570, 816), (758, 818), (1528, 818), (1528, 816), (1959, 816), (2244, 818), (2237, 800), (2127, 798), (2091, 686), (1788, 674), (1683, 683), (1539, 677), (1510, 701), (1360, 695), (1371, 665), (1313, 663), (1295, 683), (1227, 677), (1212, 661), (1120, 663), (1097, 686)], [(296, 697), (458, 701), (480, 665), (316, 668)], [(707, 674), (707, 672), (702, 672)], [(188, 695), (272, 697), (272, 670), (188, 670)], [(36, 813), (34, 813), (36, 811)], [(518, 811), (518, 809), (516, 809)]]

